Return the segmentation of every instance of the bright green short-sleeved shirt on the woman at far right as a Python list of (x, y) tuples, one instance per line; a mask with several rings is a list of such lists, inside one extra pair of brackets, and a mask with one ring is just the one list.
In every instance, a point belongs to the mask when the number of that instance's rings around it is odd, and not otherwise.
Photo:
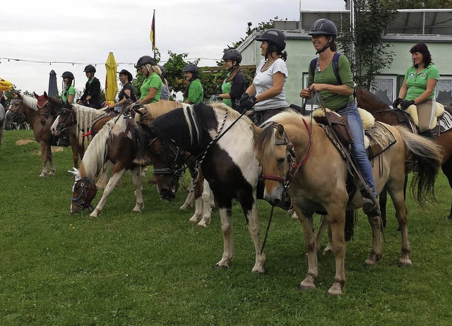
[[(427, 90), (427, 80), (436, 79), (439, 80), (439, 70), (433, 64), (422, 69), (420, 73), (417, 73), (417, 68), (410, 66), (407, 73), (405, 74), (407, 80), (407, 95), (405, 99), (409, 101), (419, 97), (425, 90)], [(435, 92), (429, 97), (433, 99), (435, 97)]]

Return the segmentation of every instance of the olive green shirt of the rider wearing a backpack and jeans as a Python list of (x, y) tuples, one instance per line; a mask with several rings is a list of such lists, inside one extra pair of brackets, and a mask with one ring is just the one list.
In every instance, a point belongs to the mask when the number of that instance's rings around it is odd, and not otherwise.
[[(350, 69), (350, 63), (348, 62), (347, 56), (344, 56), (343, 54), (339, 56), (338, 69), (339, 77), (340, 80), (342, 80), (343, 85), (347, 85), (353, 90), (355, 83), (353, 83), (352, 70)], [(314, 76), (311, 72), (311, 65), (309, 65), (308, 87), (313, 83), (338, 85), (338, 79), (333, 71), (333, 60), (331, 60), (323, 71), (319, 71), (317, 68), (316, 71), (314, 71)], [(347, 106), (349, 102), (353, 102), (353, 95), (340, 95), (329, 92), (328, 90), (322, 90), (320, 96), (325, 107), (333, 111), (342, 109)]]

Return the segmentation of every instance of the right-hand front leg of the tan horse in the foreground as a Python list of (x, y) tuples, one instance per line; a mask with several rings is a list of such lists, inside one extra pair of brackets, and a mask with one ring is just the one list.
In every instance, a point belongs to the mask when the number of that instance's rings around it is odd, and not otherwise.
[(328, 220), (331, 225), (331, 239), (336, 267), (334, 283), (328, 289), (328, 295), (340, 296), (345, 284), (345, 207), (335, 207), (328, 210)]

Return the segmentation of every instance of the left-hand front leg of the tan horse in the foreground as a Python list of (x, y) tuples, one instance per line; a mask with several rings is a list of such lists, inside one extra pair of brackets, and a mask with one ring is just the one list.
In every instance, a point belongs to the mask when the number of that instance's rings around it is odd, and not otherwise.
[(305, 217), (301, 210), (294, 205), (295, 212), (297, 213), (297, 217), (299, 222), (302, 224), (303, 232), (304, 232), (304, 246), (307, 249), (308, 256), (308, 274), (303, 279), (303, 281), (299, 284), (298, 289), (300, 291), (305, 291), (309, 289), (316, 288), (316, 278), (319, 274), (319, 270), (317, 267), (317, 250), (316, 250), (316, 239), (314, 238), (314, 232), (312, 231), (312, 217)]

